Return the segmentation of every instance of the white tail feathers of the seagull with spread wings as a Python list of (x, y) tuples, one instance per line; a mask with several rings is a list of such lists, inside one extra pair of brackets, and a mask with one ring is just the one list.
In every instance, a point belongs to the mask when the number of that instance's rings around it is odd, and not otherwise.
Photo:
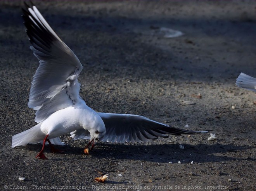
[[(12, 148), (17, 146), (25, 146), (29, 144), (43, 143), (45, 134), (41, 131), (42, 123), (38, 123), (29, 130), (23, 131), (17, 135), (12, 136)], [(59, 137), (49, 139), (50, 142), (54, 145), (65, 145), (61, 142)]]

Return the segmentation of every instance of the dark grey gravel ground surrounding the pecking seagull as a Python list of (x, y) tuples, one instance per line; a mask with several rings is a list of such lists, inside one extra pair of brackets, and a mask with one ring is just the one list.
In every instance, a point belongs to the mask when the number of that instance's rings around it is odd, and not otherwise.
[[(211, 130), (216, 140), (205, 133), (99, 143), (85, 156), (88, 141), (64, 135), (67, 145), (58, 148), (66, 152), (47, 147), (49, 160), (35, 159), (41, 145), (12, 149), (12, 136), (35, 125), (27, 103), (38, 61), (22, 2), (2, 0), (1, 190), (256, 190), (255, 93), (235, 86), (240, 72), (256, 76), (255, 1), (34, 3), (83, 64), (88, 106)], [(183, 35), (166, 38), (162, 27)], [(104, 184), (94, 181), (97, 170), (109, 174)]]

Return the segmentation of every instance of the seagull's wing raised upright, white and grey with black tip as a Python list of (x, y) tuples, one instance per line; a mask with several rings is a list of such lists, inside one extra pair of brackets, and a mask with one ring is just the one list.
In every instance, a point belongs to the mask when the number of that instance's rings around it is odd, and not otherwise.
[(40, 123), (50, 114), (80, 102), (78, 75), (82, 65), (34, 5), (23, 10), (24, 24), (39, 67), (31, 84), (28, 106)]

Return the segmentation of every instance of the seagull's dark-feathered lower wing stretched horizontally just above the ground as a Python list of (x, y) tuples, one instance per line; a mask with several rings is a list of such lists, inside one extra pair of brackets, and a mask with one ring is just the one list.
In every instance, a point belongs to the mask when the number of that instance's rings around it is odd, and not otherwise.
[(144, 142), (150, 139), (157, 139), (157, 137), (168, 137), (166, 134), (181, 135), (208, 132), (183, 130), (138, 115), (98, 114), (106, 127), (106, 135), (102, 139), (103, 142)]

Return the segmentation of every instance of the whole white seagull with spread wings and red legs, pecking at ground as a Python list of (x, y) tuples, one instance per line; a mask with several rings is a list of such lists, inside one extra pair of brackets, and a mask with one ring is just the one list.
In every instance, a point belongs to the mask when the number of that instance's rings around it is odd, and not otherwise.
[(64, 145), (59, 136), (70, 133), (76, 139), (90, 139), (85, 149), (97, 142), (146, 142), (166, 134), (206, 133), (171, 127), (132, 114), (97, 113), (80, 97), (78, 76), (83, 69), (73, 51), (57, 36), (35, 5), (22, 9), (26, 33), (39, 67), (31, 83), (28, 107), (36, 110), (36, 125), (12, 136), (12, 148), (42, 143), (36, 155), (46, 159), (43, 151), (62, 153), (53, 145)]

